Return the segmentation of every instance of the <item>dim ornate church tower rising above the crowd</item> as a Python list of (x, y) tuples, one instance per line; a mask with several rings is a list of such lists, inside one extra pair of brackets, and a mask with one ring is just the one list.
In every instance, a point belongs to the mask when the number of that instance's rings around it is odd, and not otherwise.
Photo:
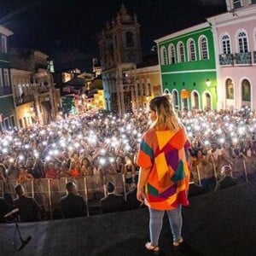
[(129, 15), (124, 6), (107, 22), (99, 35), (102, 81), (107, 109), (119, 113), (132, 110), (137, 63), (142, 62), (140, 25), (137, 15)]

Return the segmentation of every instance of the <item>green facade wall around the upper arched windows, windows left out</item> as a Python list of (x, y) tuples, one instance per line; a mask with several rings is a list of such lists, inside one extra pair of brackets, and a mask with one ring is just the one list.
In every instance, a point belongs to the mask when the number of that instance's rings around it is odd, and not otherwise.
[[(200, 58), (199, 39), (207, 38), (208, 59)], [(188, 42), (192, 39), (195, 42), (195, 61), (189, 60)], [(208, 23), (193, 26), (186, 30), (173, 33), (164, 38), (155, 40), (158, 44), (160, 59), (160, 73), (163, 90), (177, 94), (174, 105), (177, 108), (217, 108), (217, 72), (215, 65), (215, 52), (212, 28)], [(177, 62), (177, 45), (182, 42), (184, 45), (184, 62)], [(170, 64), (169, 46), (173, 45), (176, 53), (175, 62)], [(167, 64), (163, 65), (161, 48), (166, 48)], [(207, 79), (211, 82), (207, 86)], [(197, 95), (195, 99), (195, 95)], [(209, 96), (210, 98), (208, 98)], [(187, 97), (187, 98), (186, 98)], [(198, 100), (197, 100), (198, 99)], [(207, 100), (208, 99), (208, 100)], [(196, 102), (196, 104), (195, 104)]]

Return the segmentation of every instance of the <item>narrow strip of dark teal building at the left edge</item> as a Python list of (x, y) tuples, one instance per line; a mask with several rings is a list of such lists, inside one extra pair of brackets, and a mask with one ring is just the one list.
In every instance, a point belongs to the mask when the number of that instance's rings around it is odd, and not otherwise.
[(10, 81), (8, 38), (13, 35), (0, 26), (0, 130), (15, 126), (15, 106)]

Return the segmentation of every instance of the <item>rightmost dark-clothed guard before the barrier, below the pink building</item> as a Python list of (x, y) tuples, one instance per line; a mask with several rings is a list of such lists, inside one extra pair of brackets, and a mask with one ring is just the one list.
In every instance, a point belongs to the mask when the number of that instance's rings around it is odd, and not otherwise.
[(216, 183), (215, 191), (218, 189), (226, 189), (238, 184), (236, 177), (232, 177), (232, 169), (230, 166), (223, 166), (221, 168), (221, 176), (221, 179)]

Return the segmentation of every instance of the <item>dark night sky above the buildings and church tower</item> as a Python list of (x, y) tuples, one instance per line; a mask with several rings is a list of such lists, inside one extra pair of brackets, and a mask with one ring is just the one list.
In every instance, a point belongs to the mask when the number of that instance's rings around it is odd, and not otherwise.
[(92, 57), (99, 55), (96, 34), (122, 3), (137, 14), (143, 55), (154, 39), (226, 10), (225, 0), (0, 0), (0, 24), (14, 32), (11, 47), (41, 50), (55, 61), (55, 70), (90, 72)]

